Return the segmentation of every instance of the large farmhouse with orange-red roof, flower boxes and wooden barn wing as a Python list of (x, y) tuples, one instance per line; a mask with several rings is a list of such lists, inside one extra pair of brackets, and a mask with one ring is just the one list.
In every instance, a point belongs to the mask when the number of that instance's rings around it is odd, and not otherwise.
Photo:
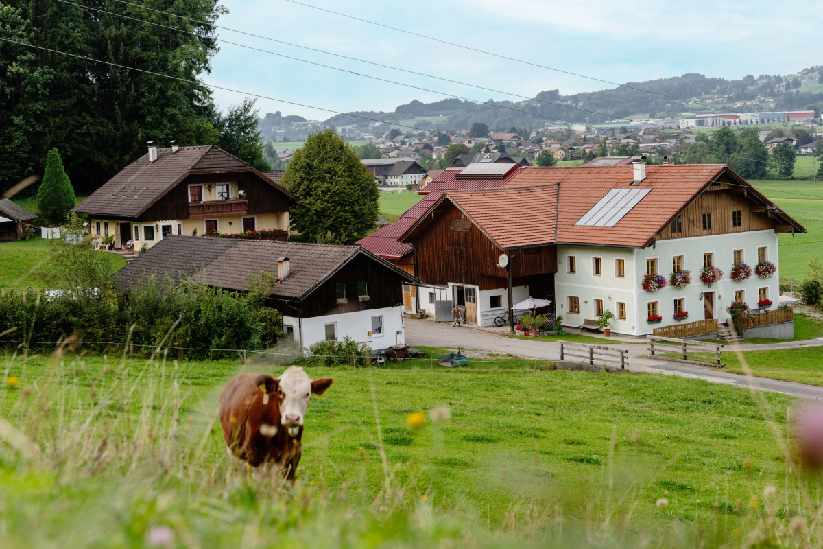
[[(734, 301), (777, 308), (778, 235), (795, 232), (806, 230), (725, 165), (636, 161), (527, 167), (501, 188), (449, 190), (397, 240), (425, 285), (446, 287), (436, 299), (481, 326), (532, 295), (553, 300), (567, 326), (608, 310), (616, 333), (712, 337)], [(750, 276), (732, 277), (744, 264)], [(717, 280), (701, 280), (704, 268)], [(672, 284), (676, 273), (686, 281)], [(658, 275), (663, 287), (644, 286)], [(791, 311), (763, 314), (787, 330), (776, 337), (792, 333)]]

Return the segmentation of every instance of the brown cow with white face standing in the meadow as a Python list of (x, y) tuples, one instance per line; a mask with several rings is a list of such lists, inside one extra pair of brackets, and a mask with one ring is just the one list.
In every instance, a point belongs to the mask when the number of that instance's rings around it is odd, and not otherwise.
[(333, 381), (312, 381), (296, 366), (277, 379), (267, 374), (235, 376), (220, 393), (220, 423), (229, 454), (252, 467), (276, 463), (286, 478), (294, 478), (309, 398), (323, 394)]

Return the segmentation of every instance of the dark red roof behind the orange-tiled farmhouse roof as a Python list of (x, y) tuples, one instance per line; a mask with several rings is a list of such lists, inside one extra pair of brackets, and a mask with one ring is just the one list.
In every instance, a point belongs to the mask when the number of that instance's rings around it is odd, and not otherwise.
[[(407, 254), (412, 253), (412, 246), (404, 242), (398, 242), (398, 237), (402, 235), (409, 226), (412, 226), (414, 221), (423, 215), (423, 212), (437, 202), (437, 200), (449, 190), (453, 189), (471, 189), (471, 188), (498, 188), (506, 184), (507, 181), (514, 177), (523, 166), (516, 165), (514, 170), (509, 171), (505, 175), (505, 179), (457, 179), (457, 174), (463, 171), (463, 168), (447, 168), (440, 170), (439, 174), (435, 175), (435, 179), (424, 188), (421, 188), (420, 194), (424, 195), (420, 202), (410, 207), (406, 213), (400, 216), (398, 221), (384, 226), (382, 229), (375, 230), (371, 235), (357, 241), (365, 249), (368, 249), (373, 254), (379, 255), (381, 258), (399, 259)], [(429, 172), (431, 173), (431, 172)]]

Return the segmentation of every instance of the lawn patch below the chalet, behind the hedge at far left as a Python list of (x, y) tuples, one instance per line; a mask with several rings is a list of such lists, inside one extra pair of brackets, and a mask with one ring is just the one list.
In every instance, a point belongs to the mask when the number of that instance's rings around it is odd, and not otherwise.
[[(126, 260), (118, 255), (105, 254), (115, 269), (122, 268)], [(49, 240), (40, 236), (30, 240), (0, 242), (0, 288), (23, 287), (44, 289), (35, 275), (49, 260)]]

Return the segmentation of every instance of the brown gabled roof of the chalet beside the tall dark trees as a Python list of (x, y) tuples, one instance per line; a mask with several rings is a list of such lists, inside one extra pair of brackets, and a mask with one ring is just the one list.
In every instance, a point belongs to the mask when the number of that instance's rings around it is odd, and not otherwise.
[[(192, 172), (243, 168), (263, 175), (251, 165), (213, 145), (180, 147), (174, 154), (171, 154), (170, 148), (158, 148), (156, 161), (149, 164), (146, 152), (91, 193), (91, 196), (77, 205), (74, 211), (105, 216), (137, 217)], [(266, 176), (263, 178), (272, 180)], [(277, 184), (275, 186), (287, 196), (294, 198), (285, 188)]]

